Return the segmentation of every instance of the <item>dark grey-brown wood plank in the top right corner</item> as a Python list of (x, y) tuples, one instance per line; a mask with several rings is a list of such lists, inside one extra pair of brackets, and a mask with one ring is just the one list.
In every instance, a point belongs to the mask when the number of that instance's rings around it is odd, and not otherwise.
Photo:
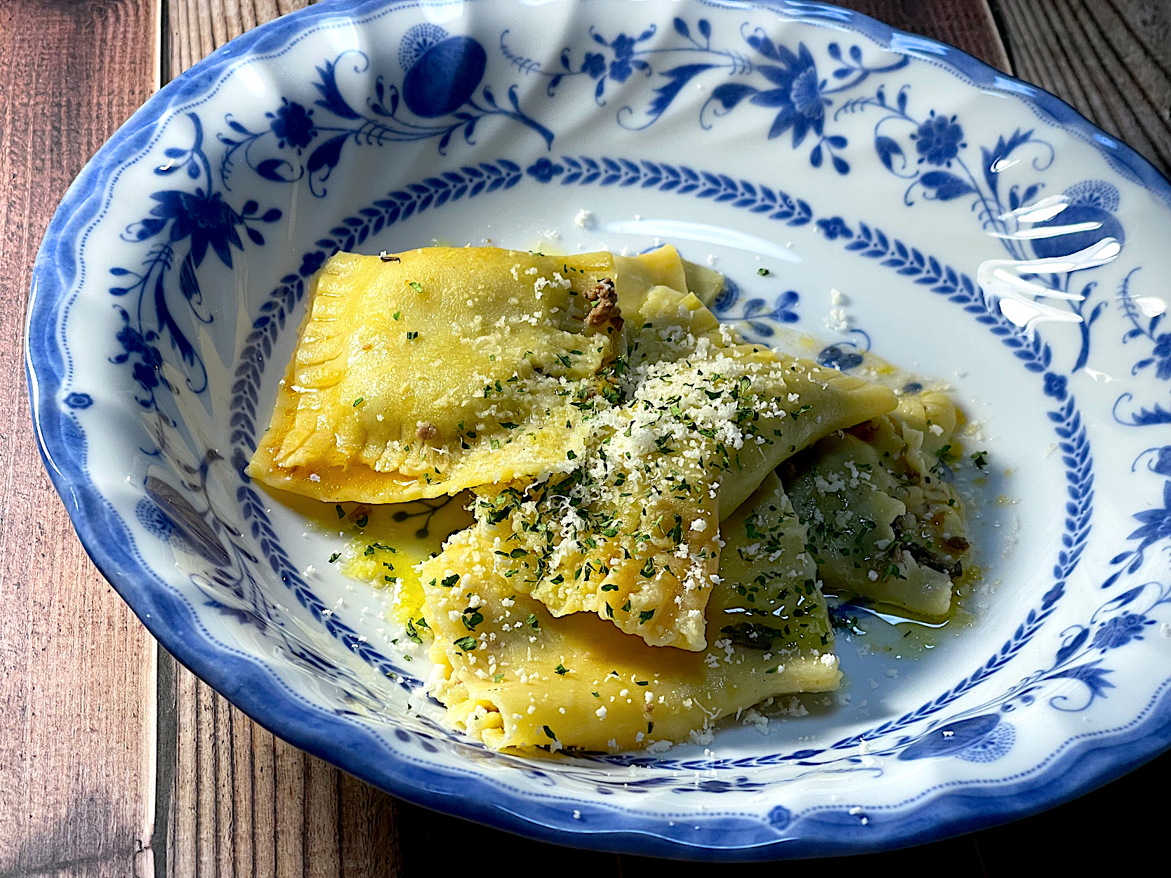
[(1171, 4), (999, 0), (1016, 75), (1171, 172)]

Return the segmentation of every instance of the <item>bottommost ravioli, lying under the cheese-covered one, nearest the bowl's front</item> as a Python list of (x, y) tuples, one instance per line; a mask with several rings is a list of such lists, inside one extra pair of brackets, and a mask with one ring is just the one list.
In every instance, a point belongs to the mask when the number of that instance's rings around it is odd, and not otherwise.
[(684, 741), (771, 695), (837, 688), (804, 530), (769, 476), (725, 522), (707, 652), (656, 647), (602, 619), (552, 616), (480, 529), (420, 569), (433, 693), (494, 749), (619, 750)]

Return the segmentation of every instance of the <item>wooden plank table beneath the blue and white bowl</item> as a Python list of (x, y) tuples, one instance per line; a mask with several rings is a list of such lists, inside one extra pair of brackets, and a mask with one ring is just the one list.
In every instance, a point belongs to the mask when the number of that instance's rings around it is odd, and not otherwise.
[[(158, 647), (85, 556), (41, 467), (20, 338), (57, 200), (162, 83), (304, 2), (0, 0), (0, 878), (413, 876), (504, 862), (540, 876), (567, 855), (597, 878), (698, 873), (432, 814), (274, 739)], [(843, 5), (1049, 89), (1171, 167), (1171, 0)], [(1076, 874), (1098, 849), (1127, 867), (1127, 841), (1158, 845), (1165, 822), (1162, 807), (1135, 804), (1169, 781), (1171, 754), (1030, 819), (848, 865)]]

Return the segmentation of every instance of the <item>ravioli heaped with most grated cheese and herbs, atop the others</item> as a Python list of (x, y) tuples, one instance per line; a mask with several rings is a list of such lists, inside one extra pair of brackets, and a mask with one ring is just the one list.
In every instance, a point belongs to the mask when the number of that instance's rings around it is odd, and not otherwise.
[(547, 479), (478, 492), (475, 514), (514, 588), (554, 616), (595, 612), (698, 651), (720, 519), (786, 458), (895, 397), (740, 343), (691, 294), (655, 287), (634, 323), (612, 395), (583, 405), (583, 441)]

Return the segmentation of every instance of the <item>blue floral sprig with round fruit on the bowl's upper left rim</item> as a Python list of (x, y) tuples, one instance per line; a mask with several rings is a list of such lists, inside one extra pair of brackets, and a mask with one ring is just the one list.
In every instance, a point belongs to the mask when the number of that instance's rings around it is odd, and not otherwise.
[(472, 37), (451, 36), (437, 25), (416, 25), (399, 41), (398, 63), (402, 81), (396, 84), (385, 75), (377, 76), (363, 105), (355, 105), (338, 84), (347, 67), (354, 74), (370, 69), (369, 56), (350, 49), (315, 68), (313, 107), (282, 97), (280, 107), (265, 114), (268, 126), (256, 131), (226, 116), (231, 132), (219, 136), (227, 146), (219, 169), (225, 187), (242, 157), (266, 180), (308, 178), (310, 192), (322, 198), (347, 144), (383, 146), (433, 139), (438, 152), (446, 155), (457, 136), (474, 145), (477, 126), (489, 117), (512, 119), (535, 131), (547, 149), (553, 145), (553, 132), (521, 110), (515, 85), (502, 104), (492, 87), (482, 84), (487, 53)]

